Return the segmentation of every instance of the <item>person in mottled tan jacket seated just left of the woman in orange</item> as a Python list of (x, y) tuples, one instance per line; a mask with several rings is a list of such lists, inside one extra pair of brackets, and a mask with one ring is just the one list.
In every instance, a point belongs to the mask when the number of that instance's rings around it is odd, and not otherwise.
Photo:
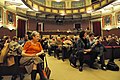
[(9, 61), (9, 66), (19, 65), (19, 63), (15, 63), (15, 57), (21, 56), (22, 46), (18, 43), (18, 39), (16, 36), (13, 36), (12, 41), (10, 41), (8, 45), (8, 53), (6, 55), (7, 61)]

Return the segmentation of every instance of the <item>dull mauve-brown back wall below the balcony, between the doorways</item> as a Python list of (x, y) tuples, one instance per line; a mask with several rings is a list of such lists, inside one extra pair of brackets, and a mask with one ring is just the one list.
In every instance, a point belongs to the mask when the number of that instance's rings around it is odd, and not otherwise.
[[(58, 29), (60, 31), (67, 31), (67, 30), (71, 30), (73, 31), (74, 29), (74, 24), (75, 23), (80, 23), (79, 21), (67, 21), (67, 22), (63, 22), (63, 24), (57, 24), (55, 21), (44, 21), (42, 22), (44, 25), (44, 31), (57, 31)], [(89, 20), (84, 20), (81, 22), (81, 28), (83, 30), (85, 30), (87, 27), (89, 27)], [(28, 20), (28, 30), (36, 30), (36, 26), (37, 26), (37, 21), (34, 19), (29, 19)]]

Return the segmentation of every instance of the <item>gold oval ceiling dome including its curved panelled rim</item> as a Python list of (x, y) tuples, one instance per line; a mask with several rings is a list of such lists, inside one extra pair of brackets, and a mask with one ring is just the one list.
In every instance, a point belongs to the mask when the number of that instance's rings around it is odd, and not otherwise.
[(22, 0), (29, 8), (45, 12), (49, 14), (58, 15), (73, 15), (84, 14), (89, 11), (98, 10), (115, 0), (99, 0), (94, 4), (87, 3), (86, 0), (62, 0), (56, 2), (55, 0)]

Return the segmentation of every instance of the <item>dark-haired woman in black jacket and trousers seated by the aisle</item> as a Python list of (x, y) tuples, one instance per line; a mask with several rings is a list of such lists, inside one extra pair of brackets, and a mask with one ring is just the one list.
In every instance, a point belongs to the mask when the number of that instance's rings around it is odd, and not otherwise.
[(90, 42), (87, 39), (87, 32), (81, 31), (80, 32), (80, 38), (77, 41), (77, 51), (78, 51), (78, 58), (80, 62), (79, 71), (83, 71), (83, 63), (84, 63), (84, 55), (90, 56), (90, 68), (97, 69), (97, 67), (94, 66), (94, 61), (97, 58), (96, 53), (92, 53), (92, 49), (90, 46)]

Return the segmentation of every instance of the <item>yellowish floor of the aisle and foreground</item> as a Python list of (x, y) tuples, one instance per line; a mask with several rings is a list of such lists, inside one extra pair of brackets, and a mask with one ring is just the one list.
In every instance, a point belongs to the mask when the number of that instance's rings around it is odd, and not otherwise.
[[(63, 62), (48, 55), (47, 59), (49, 67), (52, 70), (50, 80), (120, 80), (120, 71), (94, 70), (84, 65), (84, 71), (80, 72), (78, 69), (70, 66), (68, 60)], [(120, 66), (118, 59), (115, 62)], [(10, 80), (10, 76), (5, 76), (3, 80)], [(30, 80), (30, 75), (26, 74), (24, 80)], [(39, 80), (39, 75), (37, 75), (36, 80)]]

